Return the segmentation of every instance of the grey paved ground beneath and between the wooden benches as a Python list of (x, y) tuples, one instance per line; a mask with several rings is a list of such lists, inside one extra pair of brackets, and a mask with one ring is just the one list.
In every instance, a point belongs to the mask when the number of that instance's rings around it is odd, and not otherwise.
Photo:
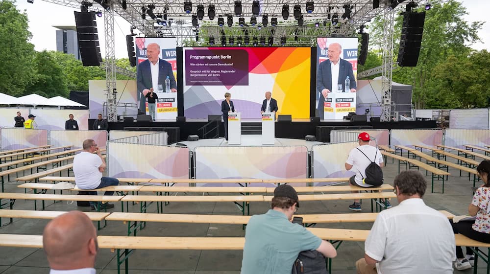
[[(402, 167), (404, 169), (404, 167)], [(398, 165), (389, 163), (384, 168), (385, 183), (392, 184), (393, 178), (398, 173)], [(467, 206), (471, 201), (472, 182), (468, 181), (467, 174), (459, 176), (459, 171), (449, 169), (451, 176), (446, 181), (444, 194), (430, 193), (430, 176), (427, 176), (428, 193), (424, 200), (427, 205), (436, 209), (445, 209), (456, 215), (466, 214)], [(425, 171), (423, 172), (425, 175)], [(6, 192), (24, 192), (17, 188), (17, 182), (6, 184)], [(436, 181), (435, 190), (441, 191), (441, 182)], [(366, 201), (362, 207), (363, 212), (369, 212), (370, 206)], [(298, 213), (347, 213), (351, 212), (347, 206), (351, 201), (326, 201), (326, 202), (301, 202)], [(392, 201), (393, 206), (397, 204)], [(52, 204), (47, 202), (46, 210), (87, 210), (77, 207), (76, 204), (59, 202)], [(111, 211), (120, 211), (120, 204)], [(15, 209), (33, 209), (32, 201), (17, 201)], [(267, 211), (269, 204), (253, 203), (250, 206), (252, 214), (261, 214)], [(137, 212), (139, 206), (130, 208)], [(199, 214), (241, 214), (236, 206), (231, 203), (172, 203), (164, 208), (167, 213), (199, 213)], [(156, 207), (151, 206), (148, 212), (155, 212)], [(5, 223), (5, 219), (2, 220)], [(0, 228), (0, 233), (42, 234), (47, 220), (15, 219), (14, 223)], [(347, 223), (347, 224), (320, 224), (320, 228), (353, 228), (370, 229), (371, 223)], [(108, 227), (100, 230), (99, 235), (125, 235), (126, 225), (122, 222), (109, 222)], [(171, 224), (171, 223), (147, 223), (147, 227), (138, 232), (140, 236), (244, 236), (242, 226), (239, 225), (208, 225), (208, 224)], [(0, 273), (1, 274), (26, 274), (49, 273), (48, 262), (43, 250), (24, 248), (0, 248)], [(355, 273), (355, 261), (364, 255), (364, 243), (344, 242), (338, 250), (338, 257), (333, 260), (333, 273)], [(98, 273), (117, 273), (115, 253), (109, 250), (100, 250), (96, 263)], [(130, 273), (134, 274), (238, 274), (242, 262), (242, 251), (135, 251), (129, 260)], [(480, 260), (481, 262), (481, 260)], [(486, 267), (484, 263), (480, 267)], [(472, 273), (455, 271), (454, 273)], [(478, 273), (485, 273), (479, 269)]]

